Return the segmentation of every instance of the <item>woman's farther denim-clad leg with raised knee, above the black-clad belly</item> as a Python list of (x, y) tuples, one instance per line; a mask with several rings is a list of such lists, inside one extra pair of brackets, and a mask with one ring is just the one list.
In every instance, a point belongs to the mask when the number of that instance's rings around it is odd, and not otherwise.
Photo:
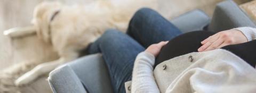
[(132, 17), (127, 34), (143, 47), (171, 40), (182, 32), (154, 10), (142, 8)]

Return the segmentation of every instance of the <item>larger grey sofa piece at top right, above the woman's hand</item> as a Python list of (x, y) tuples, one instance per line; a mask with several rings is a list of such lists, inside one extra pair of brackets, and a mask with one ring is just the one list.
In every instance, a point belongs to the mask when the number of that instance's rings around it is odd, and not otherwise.
[(255, 27), (255, 24), (235, 2), (228, 0), (216, 6), (207, 30), (218, 32), (237, 27)]

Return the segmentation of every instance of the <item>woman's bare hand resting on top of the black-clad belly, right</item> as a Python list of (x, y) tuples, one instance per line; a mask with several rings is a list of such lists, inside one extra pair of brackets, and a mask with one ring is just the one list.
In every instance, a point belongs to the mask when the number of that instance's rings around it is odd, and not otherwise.
[(205, 52), (227, 45), (241, 44), (247, 41), (247, 38), (241, 31), (234, 29), (221, 31), (203, 40), (201, 42), (202, 46), (198, 48), (198, 52)]

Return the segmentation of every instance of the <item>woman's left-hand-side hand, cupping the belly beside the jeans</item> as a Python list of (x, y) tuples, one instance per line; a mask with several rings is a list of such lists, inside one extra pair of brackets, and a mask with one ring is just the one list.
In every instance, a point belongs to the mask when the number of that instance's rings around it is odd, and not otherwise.
[(161, 41), (158, 44), (152, 44), (150, 45), (145, 51), (153, 54), (155, 57), (159, 54), (161, 48), (166, 45), (169, 41)]

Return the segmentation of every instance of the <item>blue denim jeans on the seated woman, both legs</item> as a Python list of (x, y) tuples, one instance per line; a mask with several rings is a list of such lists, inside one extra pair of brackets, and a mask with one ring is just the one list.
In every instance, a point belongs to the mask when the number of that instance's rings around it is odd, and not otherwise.
[(132, 79), (135, 57), (149, 45), (171, 40), (181, 31), (151, 9), (140, 9), (130, 21), (127, 34), (109, 29), (89, 46), (89, 54), (102, 53), (114, 92), (125, 92)]

